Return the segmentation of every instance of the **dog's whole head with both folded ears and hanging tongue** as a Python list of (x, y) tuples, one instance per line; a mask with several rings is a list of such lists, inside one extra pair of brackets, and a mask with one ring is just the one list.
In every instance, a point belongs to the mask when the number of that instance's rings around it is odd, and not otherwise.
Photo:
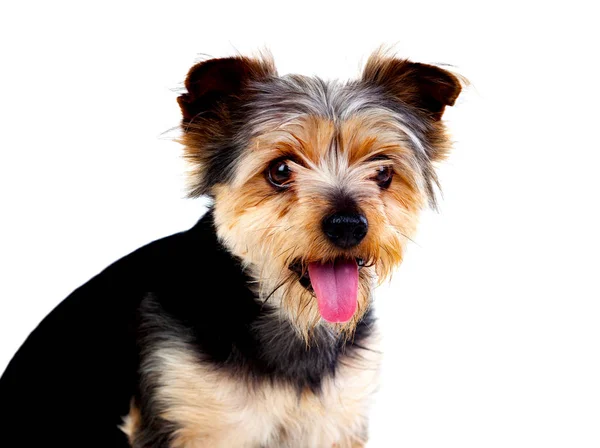
[(351, 333), (434, 203), (456, 77), (374, 55), (360, 80), (326, 83), (237, 57), (192, 67), (186, 89), (192, 194), (214, 198), (260, 299), (304, 336), (324, 322)]

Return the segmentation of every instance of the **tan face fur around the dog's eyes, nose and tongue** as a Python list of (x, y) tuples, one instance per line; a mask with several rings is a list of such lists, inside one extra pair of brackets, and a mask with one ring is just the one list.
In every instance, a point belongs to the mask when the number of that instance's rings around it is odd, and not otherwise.
[[(213, 189), (215, 223), (221, 240), (255, 279), (259, 297), (274, 304), (305, 337), (321, 322), (318, 304), (289, 270), (290, 264), (300, 260), (306, 269), (309, 262), (340, 256), (364, 259), (357, 312), (351, 321), (335, 325), (351, 333), (369, 306), (375, 282), (389, 277), (402, 261), (425, 197), (419, 188), (419, 174), (402, 160), (408, 152), (398, 141), (386, 141), (385, 132), (374, 139), (363, 135), (357, 123), (346, 123), (334, 131), (324, 120), (309, 121), (283, 133), (263, 135), (250, 146), (248, 162), (240, 163), (236, 181)], [(334, 140), (338, 147), (332, 151)], [(323, 148), (330, 148), (329, 154)], [(390, 148), (395, 150), (392, 158), (397, 158), (396, 175), (390, 187), (381, 190), (372, 180), (377, 162), (365, 160)], [(293, 186), (278, 191), (263, 173), (282, 149), (305, 163), (294, 165)], [(369, 222), (366, 238), (351, 250), (337, 249), (321, 230), (323, 218), (335, 210), (336, 192), (351, 197)]]

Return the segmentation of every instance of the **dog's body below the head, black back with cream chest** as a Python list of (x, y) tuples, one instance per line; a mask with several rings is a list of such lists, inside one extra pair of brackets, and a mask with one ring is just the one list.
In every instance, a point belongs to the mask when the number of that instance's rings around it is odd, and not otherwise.
[[(0, 380), (3, 428), (21, 446), (91, 446), (107, 432), (127, 446), (118, 426), (140, 447), (360, 440), (376, 384), (371, 319), (347, 347), (322, 332), (319, 349), (306, 350), (254, 300), (248, 280), (216, 240), (210, 213), (119, 260), (59, 305), (14, 358)], [(163, 406), (170, 424), (159, 418)], [(98, 410), (111, 413), (99, 420)], [(179, 443), (169, 445), (174, 427)]]

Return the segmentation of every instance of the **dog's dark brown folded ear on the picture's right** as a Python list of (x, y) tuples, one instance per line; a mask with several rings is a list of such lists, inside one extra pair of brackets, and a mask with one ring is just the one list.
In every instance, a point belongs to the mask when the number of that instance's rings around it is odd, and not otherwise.
[(456, 76), (434, 65), (406, 59), (382, 57), (376, 53), (367, 61), (363, 82), (382, 87), (389, 94), (440, 120), (446, 106), (452, 106), (460, 94)]

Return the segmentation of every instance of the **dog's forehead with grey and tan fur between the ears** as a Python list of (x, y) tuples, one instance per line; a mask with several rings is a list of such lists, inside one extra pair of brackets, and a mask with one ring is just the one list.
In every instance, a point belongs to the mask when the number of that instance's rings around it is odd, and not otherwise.
[(426, 123), (377, 87), (289, 75), (257, 83), (254, 91), (248, 104), (252, 136), (272, 133), (291, 136), (296, 145), (311, 143), (313, 159), (331, 149), (363, 154), (375, 139), (422, 150)]

